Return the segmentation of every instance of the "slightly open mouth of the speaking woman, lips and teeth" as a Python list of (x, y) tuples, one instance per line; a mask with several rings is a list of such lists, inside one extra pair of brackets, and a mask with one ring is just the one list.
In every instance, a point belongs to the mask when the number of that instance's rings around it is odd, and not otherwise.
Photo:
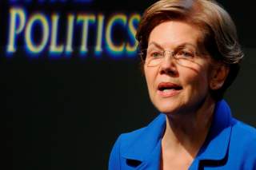
[(162, 82), (158, 85), (158, 92), (163, 97), (174, 96), (180, 90), (182, 90), (181, 85), (177, 85), (177, 84), (170, 83), (170, 82)]

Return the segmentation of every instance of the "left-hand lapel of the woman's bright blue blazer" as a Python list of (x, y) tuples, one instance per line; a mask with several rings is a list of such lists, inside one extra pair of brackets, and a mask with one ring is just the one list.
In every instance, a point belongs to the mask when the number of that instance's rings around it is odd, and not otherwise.
[[(137, 169), (153, 169), (158, 166), (161, 153), (162, 133), (166, 128), (166, 116), (160, 114), (142, 130), (136, 140), (123, 144), (120, 153), (127, 161), (141, 163)], [(157, 169), (157, 168), (154, 168)]]

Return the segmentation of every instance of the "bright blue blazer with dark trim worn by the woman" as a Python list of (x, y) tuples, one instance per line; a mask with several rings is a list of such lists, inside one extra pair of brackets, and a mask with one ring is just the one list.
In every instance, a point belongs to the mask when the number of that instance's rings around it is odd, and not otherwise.
[[(166, 117), (160, 114), (145, 128), (119, 136), (109, 170), (159, 169), (165, 127)], [(219, 101), (206, 141), (189, 169), (256, 170), (255, 128), (234, 119), (226, 102)]]

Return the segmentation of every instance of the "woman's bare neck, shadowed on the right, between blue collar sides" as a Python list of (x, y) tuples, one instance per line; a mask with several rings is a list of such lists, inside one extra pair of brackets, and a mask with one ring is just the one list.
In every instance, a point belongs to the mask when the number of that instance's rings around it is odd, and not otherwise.
[(215, 102), (208, 98), (195, 113), (166, 116), (166, 131), (162, 138), (165, 152), (187, 152), (195, 157), (206, 140)]

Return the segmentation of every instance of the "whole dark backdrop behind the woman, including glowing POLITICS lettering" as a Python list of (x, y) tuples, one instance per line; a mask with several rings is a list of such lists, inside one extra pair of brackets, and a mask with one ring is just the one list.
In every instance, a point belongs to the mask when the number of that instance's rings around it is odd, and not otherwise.
[[(0, 2), (1, 169), (107, 169), (118, 135), (158, 115), (134, 39), (153, 2)], [(246, 53), (225, 98), (234, 117), (255, 126), (254, 6), (249, 0), (219, 2)]]

